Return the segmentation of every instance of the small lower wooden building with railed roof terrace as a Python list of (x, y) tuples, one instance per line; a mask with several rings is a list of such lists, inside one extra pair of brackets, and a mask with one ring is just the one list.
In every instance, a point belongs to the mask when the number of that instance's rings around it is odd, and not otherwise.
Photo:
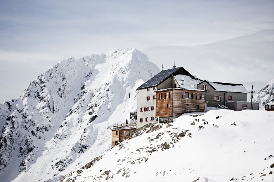
[[(124, 127), (120, 127), (120, 126), (124, 126)], [(131, 132), (135, 130), (136, 130), (135, 123), (128, 123), (128, 124), (123, 123), (123, 124), (113, 125), (112, 134), (111, 134), (111, 148), (115, 147), (117, 143), (123, 142), (124, 140), (128, 139)]]

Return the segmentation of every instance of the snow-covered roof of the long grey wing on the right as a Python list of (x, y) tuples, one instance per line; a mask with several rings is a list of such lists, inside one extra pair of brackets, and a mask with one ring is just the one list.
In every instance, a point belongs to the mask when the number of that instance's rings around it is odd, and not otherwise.
[(216, 91), (224, 92), (241, 92), (248, 93), (242, 84), (231, 84), (231, 83), (221, 83), (221, 82), (208, 82), (213, 86)]

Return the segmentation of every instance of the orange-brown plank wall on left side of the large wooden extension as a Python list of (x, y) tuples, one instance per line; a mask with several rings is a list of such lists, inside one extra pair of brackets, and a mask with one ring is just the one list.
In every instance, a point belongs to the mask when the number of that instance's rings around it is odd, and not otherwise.
[[(167, 98), (164, 98), (164, 94), (167, 94)], [(169, 108), (167, 107), (169, 104)], [(156, 118), (172, 116), (172, 91), (164, 90), (156, 92)]]

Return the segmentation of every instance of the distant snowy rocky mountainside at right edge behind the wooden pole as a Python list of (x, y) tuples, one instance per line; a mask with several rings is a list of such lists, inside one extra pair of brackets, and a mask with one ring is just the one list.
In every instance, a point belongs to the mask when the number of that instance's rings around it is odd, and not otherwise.
[[(270, 80), (256, 95), (253, 102), (258, 102), (260, 110), (264, 110), (264, 105), (274, 98), (274, 79)], [(248, 102), (251, 102), (251, 98)]]

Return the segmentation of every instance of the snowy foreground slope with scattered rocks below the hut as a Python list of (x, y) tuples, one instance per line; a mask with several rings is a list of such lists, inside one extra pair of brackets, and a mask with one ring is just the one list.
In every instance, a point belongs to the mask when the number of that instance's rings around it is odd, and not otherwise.
[(60, 182), (274, 181), (273, 118), (256, 110), (184, 114), (142, 128)]

